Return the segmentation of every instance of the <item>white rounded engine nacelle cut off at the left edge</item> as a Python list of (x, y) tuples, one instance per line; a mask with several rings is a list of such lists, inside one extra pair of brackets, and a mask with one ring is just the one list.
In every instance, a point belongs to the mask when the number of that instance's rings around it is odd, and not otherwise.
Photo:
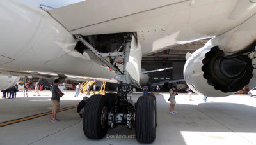
[(19, 76), (0, 75), (0, 90), (6, 90), (7, 88), (14, 86), (19, 79)]

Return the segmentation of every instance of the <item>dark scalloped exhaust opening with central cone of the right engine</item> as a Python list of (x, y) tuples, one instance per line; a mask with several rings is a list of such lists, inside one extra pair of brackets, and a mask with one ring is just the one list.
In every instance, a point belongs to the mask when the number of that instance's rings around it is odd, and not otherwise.
[(227, 57), (218, 46), (211, 48), (202, 60), (207, 83), (221, 92), (237, 92), (252, 78), (252, 59), (247, 55)]

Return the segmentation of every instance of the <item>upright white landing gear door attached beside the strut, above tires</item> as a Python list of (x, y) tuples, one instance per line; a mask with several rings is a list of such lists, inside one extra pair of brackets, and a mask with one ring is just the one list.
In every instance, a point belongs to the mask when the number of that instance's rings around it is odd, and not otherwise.
[(127, 62), (127, 72), (131, 75), (132, 79), (140, 82), (140, 72), (141, 72), (141, 45), (136, 38), (132, 36), (131, 50), (129, 55), (129, 62)]

